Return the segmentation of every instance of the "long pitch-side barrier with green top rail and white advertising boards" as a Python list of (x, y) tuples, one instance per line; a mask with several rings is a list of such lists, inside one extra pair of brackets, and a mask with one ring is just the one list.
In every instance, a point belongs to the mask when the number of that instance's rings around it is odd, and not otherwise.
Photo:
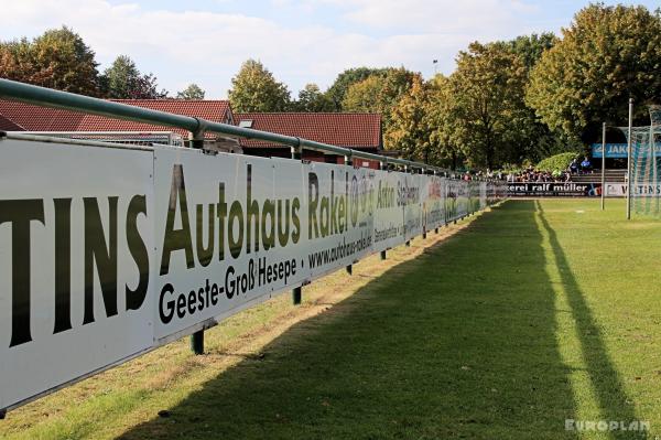
[[(183, 128), (193, 147), (0, 135), (0, 417), (182, 336), (202, 353), (224, 318), (290, 289), (300, 302), (302, 286), (506, 195), (424, 163), (6, 79), (0, 97)], [(205, 131), (293, 160), (206, 151)]]

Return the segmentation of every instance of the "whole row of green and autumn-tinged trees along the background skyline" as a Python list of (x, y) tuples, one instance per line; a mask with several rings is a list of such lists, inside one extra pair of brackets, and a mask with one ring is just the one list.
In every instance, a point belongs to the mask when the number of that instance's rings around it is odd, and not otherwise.
[[(649, 122), (647, 104), (661, 103), (661, 10), (590, 4), (561, 36), (518, 36), (472, 43), (448, 76), (429, 82), (404, 67), (356, 67), (324, 93), (307, 84), (292, 101), (262, 63), (248, 60), (228, 90), (235, 111), (355, 111), (381, 115), (386, 148), (408, 158), (458, 168), (538, 162), (583, 150), (602, 121)], [(0, 42), (0, 76), (112, 98), (162, 98), (156, 78), (119, 56), (102, 75), (94, 52), (68, 28)], [(197, 85), (180, 99), (203, 99)], [(585, 143), (584, 143), (585, 142)]]

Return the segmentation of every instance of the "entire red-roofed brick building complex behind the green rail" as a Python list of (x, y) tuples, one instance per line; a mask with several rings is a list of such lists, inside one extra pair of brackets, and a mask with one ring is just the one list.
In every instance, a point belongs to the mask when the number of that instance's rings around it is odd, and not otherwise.
[[(237, 125), (254, 130), (310, 139), (337, 147), (371, 153), (382, 152), (381, 117), (377, 114), (330, 112), (267, 112), (234, 115), (228, 100), (186, 99), (112, 99), (115, 103), (202, 118), (215, 122)], [(86, 131), (86, 132), (149, 132), (172, 131), (187, 139), (183, 129), (154, 126), (124, 119), (113, 119), (57, 108), (41, 107), (0, 99), (0, 130), (4, 131)], [(260, 157), (290, 158), (289, 147), (254, 139), (224, 138), (206, 133), (224, 151), (243, 152)], [(240, 146), (240, 147), (239, 147)], [(303, 159), (343, 163), (344, 158), (316, 151), (304, 151)], [(372, 161), (357, 161), (357, 165), (377, 168)]]

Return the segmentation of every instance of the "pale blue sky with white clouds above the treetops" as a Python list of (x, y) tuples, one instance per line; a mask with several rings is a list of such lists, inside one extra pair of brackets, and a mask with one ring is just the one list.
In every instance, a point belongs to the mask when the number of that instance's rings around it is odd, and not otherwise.
[[(659, 0), (642, 4), (650, 10)], [(606, 1), (606, 4), (617, 2)], [(120, 54), (175, 94), (195, 83), (227, 97), (248, 58), (292, 97), (326, 89), (350, 67), (404, 66), (449, 74), (472, 41), (511, 40), (568, 26), (587, 1), (556, 0), (0, 0), (0, 40), (67, 25), (96, 52), (99, 69)], [(434, 64), (433, 60), (437, 60)]]

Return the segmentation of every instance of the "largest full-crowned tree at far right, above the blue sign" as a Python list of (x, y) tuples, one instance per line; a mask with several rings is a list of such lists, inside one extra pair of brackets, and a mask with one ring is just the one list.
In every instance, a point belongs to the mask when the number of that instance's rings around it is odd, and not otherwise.
[(626, 122), (629, 97), (640, 124), (649, 122), (644, 105), (661, 98), (660, 71), (661, 11), (597, 3), (542, 55), (525, 97), (551, 129), (590, 142), (603, 121)]

